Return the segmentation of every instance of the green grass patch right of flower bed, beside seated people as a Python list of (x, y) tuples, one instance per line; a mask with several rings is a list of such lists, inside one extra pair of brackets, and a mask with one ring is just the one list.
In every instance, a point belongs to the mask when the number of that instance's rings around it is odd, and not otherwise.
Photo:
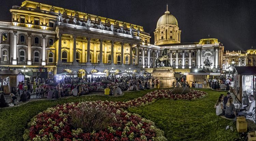
[[(236, 125), (232, 121), (216, 116), (214, 104), (223, 92), (203, 89), (208, 93), (206, 98), (187, 100), (160, 99), (155, 103), (128, 111), (156, 123), (165, 131), (169, 141), (232, 141), (239, 137)], [(233, 131), (225, 130), (227, 125)]]

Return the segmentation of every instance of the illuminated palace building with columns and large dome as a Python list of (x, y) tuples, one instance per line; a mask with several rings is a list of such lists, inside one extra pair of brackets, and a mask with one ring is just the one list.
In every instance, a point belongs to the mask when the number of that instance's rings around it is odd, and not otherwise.
[[(224, 46), (215, 38), (182, 43), (177, 19), (168, 9), (156, 23), (155, 45), (142, 26), (124, 21), (33, 1), (12, 6), (10, 12), (10, 22), (0, 21), (0, 69), (22, 70), (34, 77), (65, 71), (79, 77), (152, 72), (163, 49), (170, 49), (175, 72), (220, 73), (232, 56), (223, 54)], [(238, 52), (241, 65), (253, 65), (250, 53)]]

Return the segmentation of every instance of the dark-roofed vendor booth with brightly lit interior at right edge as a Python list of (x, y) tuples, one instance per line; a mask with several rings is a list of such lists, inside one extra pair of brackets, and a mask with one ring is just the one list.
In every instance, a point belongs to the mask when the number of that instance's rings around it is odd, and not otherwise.
[(234, 75), (234, 94), (242, 105), (247, 105), (250, 102), (249, 96), (254, 94), (256, 67), (236, 66), (232, 73)]

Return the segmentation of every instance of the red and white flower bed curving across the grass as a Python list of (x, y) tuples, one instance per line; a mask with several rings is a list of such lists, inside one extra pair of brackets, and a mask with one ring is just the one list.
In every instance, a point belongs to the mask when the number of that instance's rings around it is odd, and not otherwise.
[[(187, 91), (187, 93), (179, 94), (174, 93), (173, 89), (162, 89), (149, 92), (142, 97), (127, 102), (86, 101), (48, 108), (46, 111), (39, 113), (32, 120), (31, 127), (27, 132), (29, 135), (25, 133), (24, 140), (166, 140), (163, 136), (163, 131), (157, 129), (153, 122), (128, 113), (121, 108), (126, 109), (132, 106), (140, 106), (161, 98), (193, 100), (203, 98), (206, 94), (205, 92), (193, 89), (187, 89)], [(97, 131), (85, 132), (85, 129), (74, 127), (71, 118), (72, 114), (74, 114), (72, 111), (83, 109), (82, 105), (87, 105), (87, 108), (88, 105), (90, 105), (99, 110), (104, 109), (104, 111), (107, 111), (108, 116), (113, 116), (111, 117), (113, 122), (111, 122), (108, 127)], [(91, 112), (91, 110), (89, 112)], [(80, 113), (77, 113), (77, 115), (80, 116)]]

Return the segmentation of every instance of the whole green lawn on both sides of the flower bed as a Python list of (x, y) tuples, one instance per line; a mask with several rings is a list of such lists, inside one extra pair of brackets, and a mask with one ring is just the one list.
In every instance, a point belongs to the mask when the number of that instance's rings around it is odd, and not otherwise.
[[(25, 105), (0, 109), (0, 140), (22, 141), (22, 135), (30, 119), (39, 112), (57, 104), (79, 101), (128, 101), (143, 96), (152, 90), (127, 92), (124, 96), (82, 96), (63, 98), (59, 100), (44, 100), (29, 102)], [(157, 100), (150, 105), (130, 108), (128, 111), (138, 113), (150, 119), (165, 131), (165, 136), (172, 140), (233, 140), (238, 137), (235, 124), (215, 115), (215, 104), (220, 92), (204, 89), (208, 92), (206, 98), (186, 100)], [(232, 125), (234, 131), (226, 131), (225, 127)]]

